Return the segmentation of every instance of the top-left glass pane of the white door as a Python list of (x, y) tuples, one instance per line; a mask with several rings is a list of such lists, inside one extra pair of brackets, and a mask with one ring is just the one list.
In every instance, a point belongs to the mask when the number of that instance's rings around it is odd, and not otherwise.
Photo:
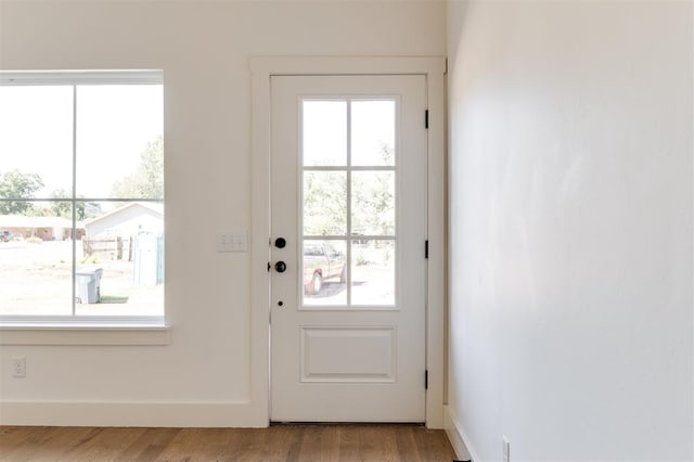
[(304, 165), (347, 165), (347, 102), (304, 101)]

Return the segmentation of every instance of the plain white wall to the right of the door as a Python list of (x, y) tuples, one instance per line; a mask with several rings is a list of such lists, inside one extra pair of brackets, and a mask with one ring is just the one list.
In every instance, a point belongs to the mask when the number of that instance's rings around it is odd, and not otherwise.
[(692, 3), (450, 2), (449, 410), (475, 462), (692, 460)]

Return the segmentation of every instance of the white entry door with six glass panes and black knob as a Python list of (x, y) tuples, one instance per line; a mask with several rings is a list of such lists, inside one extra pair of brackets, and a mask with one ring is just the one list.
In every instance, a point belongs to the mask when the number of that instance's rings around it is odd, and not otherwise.
[(271, 91), (271, 420), (424, 422), (425, 77)]

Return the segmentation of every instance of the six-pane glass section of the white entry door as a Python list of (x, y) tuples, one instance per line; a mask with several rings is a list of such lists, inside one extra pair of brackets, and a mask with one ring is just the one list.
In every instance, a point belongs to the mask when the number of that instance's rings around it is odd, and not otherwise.
[(394, 307), (396, 101), (308, 100), (303, 111), (303, 306)]

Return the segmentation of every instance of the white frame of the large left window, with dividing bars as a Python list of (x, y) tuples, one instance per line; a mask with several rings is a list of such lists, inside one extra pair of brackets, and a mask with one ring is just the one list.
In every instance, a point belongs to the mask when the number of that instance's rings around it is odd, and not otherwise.
[[(128, 69), (128, 70), (0, 70), (0, 87), (5, 86), (124, 86), (124, 85), (164, 85), (164, 75), (160, 69)], [(162, 107), (162, 111), (164, 108)], [(73, 206), (72, 233), (76, 232), (76, 216), (74, 214), (77, 202), (85, 198), (76, 196), (76, 126), (77, 117), (76, 97), (73, 97), (73, 191), (69, 198), (61, 198), (60, 202), (69, 202)], [(9, 197), (9, 200), (15, 200)], [(44, 198), (31, 198), (27, 202), (37, 202)], [(160, 203), (166, 208), (166, 198), (102, 198), (108, 202), (147, 202)], [(50, 202), (50, 201), (49, 201)], [(164, 214), (166, 217), (166, 213)], [(166, 218), (164, 218), (166, 219)], [(73, 291), (75, 291), (75, 246), (73, 240)], [(165, 251), (166, 254), (166, 251)], [(163, 282), (166, 286), (166, 279)], [(74, 294), (74, 292), (73, 292)], [(77, 315), (73, 299), (72, 315), (43, 316), (43, 315), (0, 315), (0, 345), (35, 345), (51, 344), (62, 345), (164, 345), (168, 343), (168, 328), (166, 325), (166, 304), (163, 304), (160, 316), (86, 316)], [(72, 332), (63, 342), (54, 335), (55, 331)], [(111, 331), (105, 343), (100, 341), (103, 335), (91, 335), (86, 332)], [(133, 333), (138, 333), (133, 335)], [(53, 334), (52, 334), (53, 333)], [(116, 333), (116, 335), (113, 335)], [(119, 335), (124, 334), (124, 335)], [(27, 336), (27, 334), (29, 334)], [(150, 335), (152, 334), (152, 335)], [(37, 336), (38, 335), (38, 336)], [(48, 335), (48, 336), (47, 336)], [(142, 336), (144, 335), (144, 336)]]

